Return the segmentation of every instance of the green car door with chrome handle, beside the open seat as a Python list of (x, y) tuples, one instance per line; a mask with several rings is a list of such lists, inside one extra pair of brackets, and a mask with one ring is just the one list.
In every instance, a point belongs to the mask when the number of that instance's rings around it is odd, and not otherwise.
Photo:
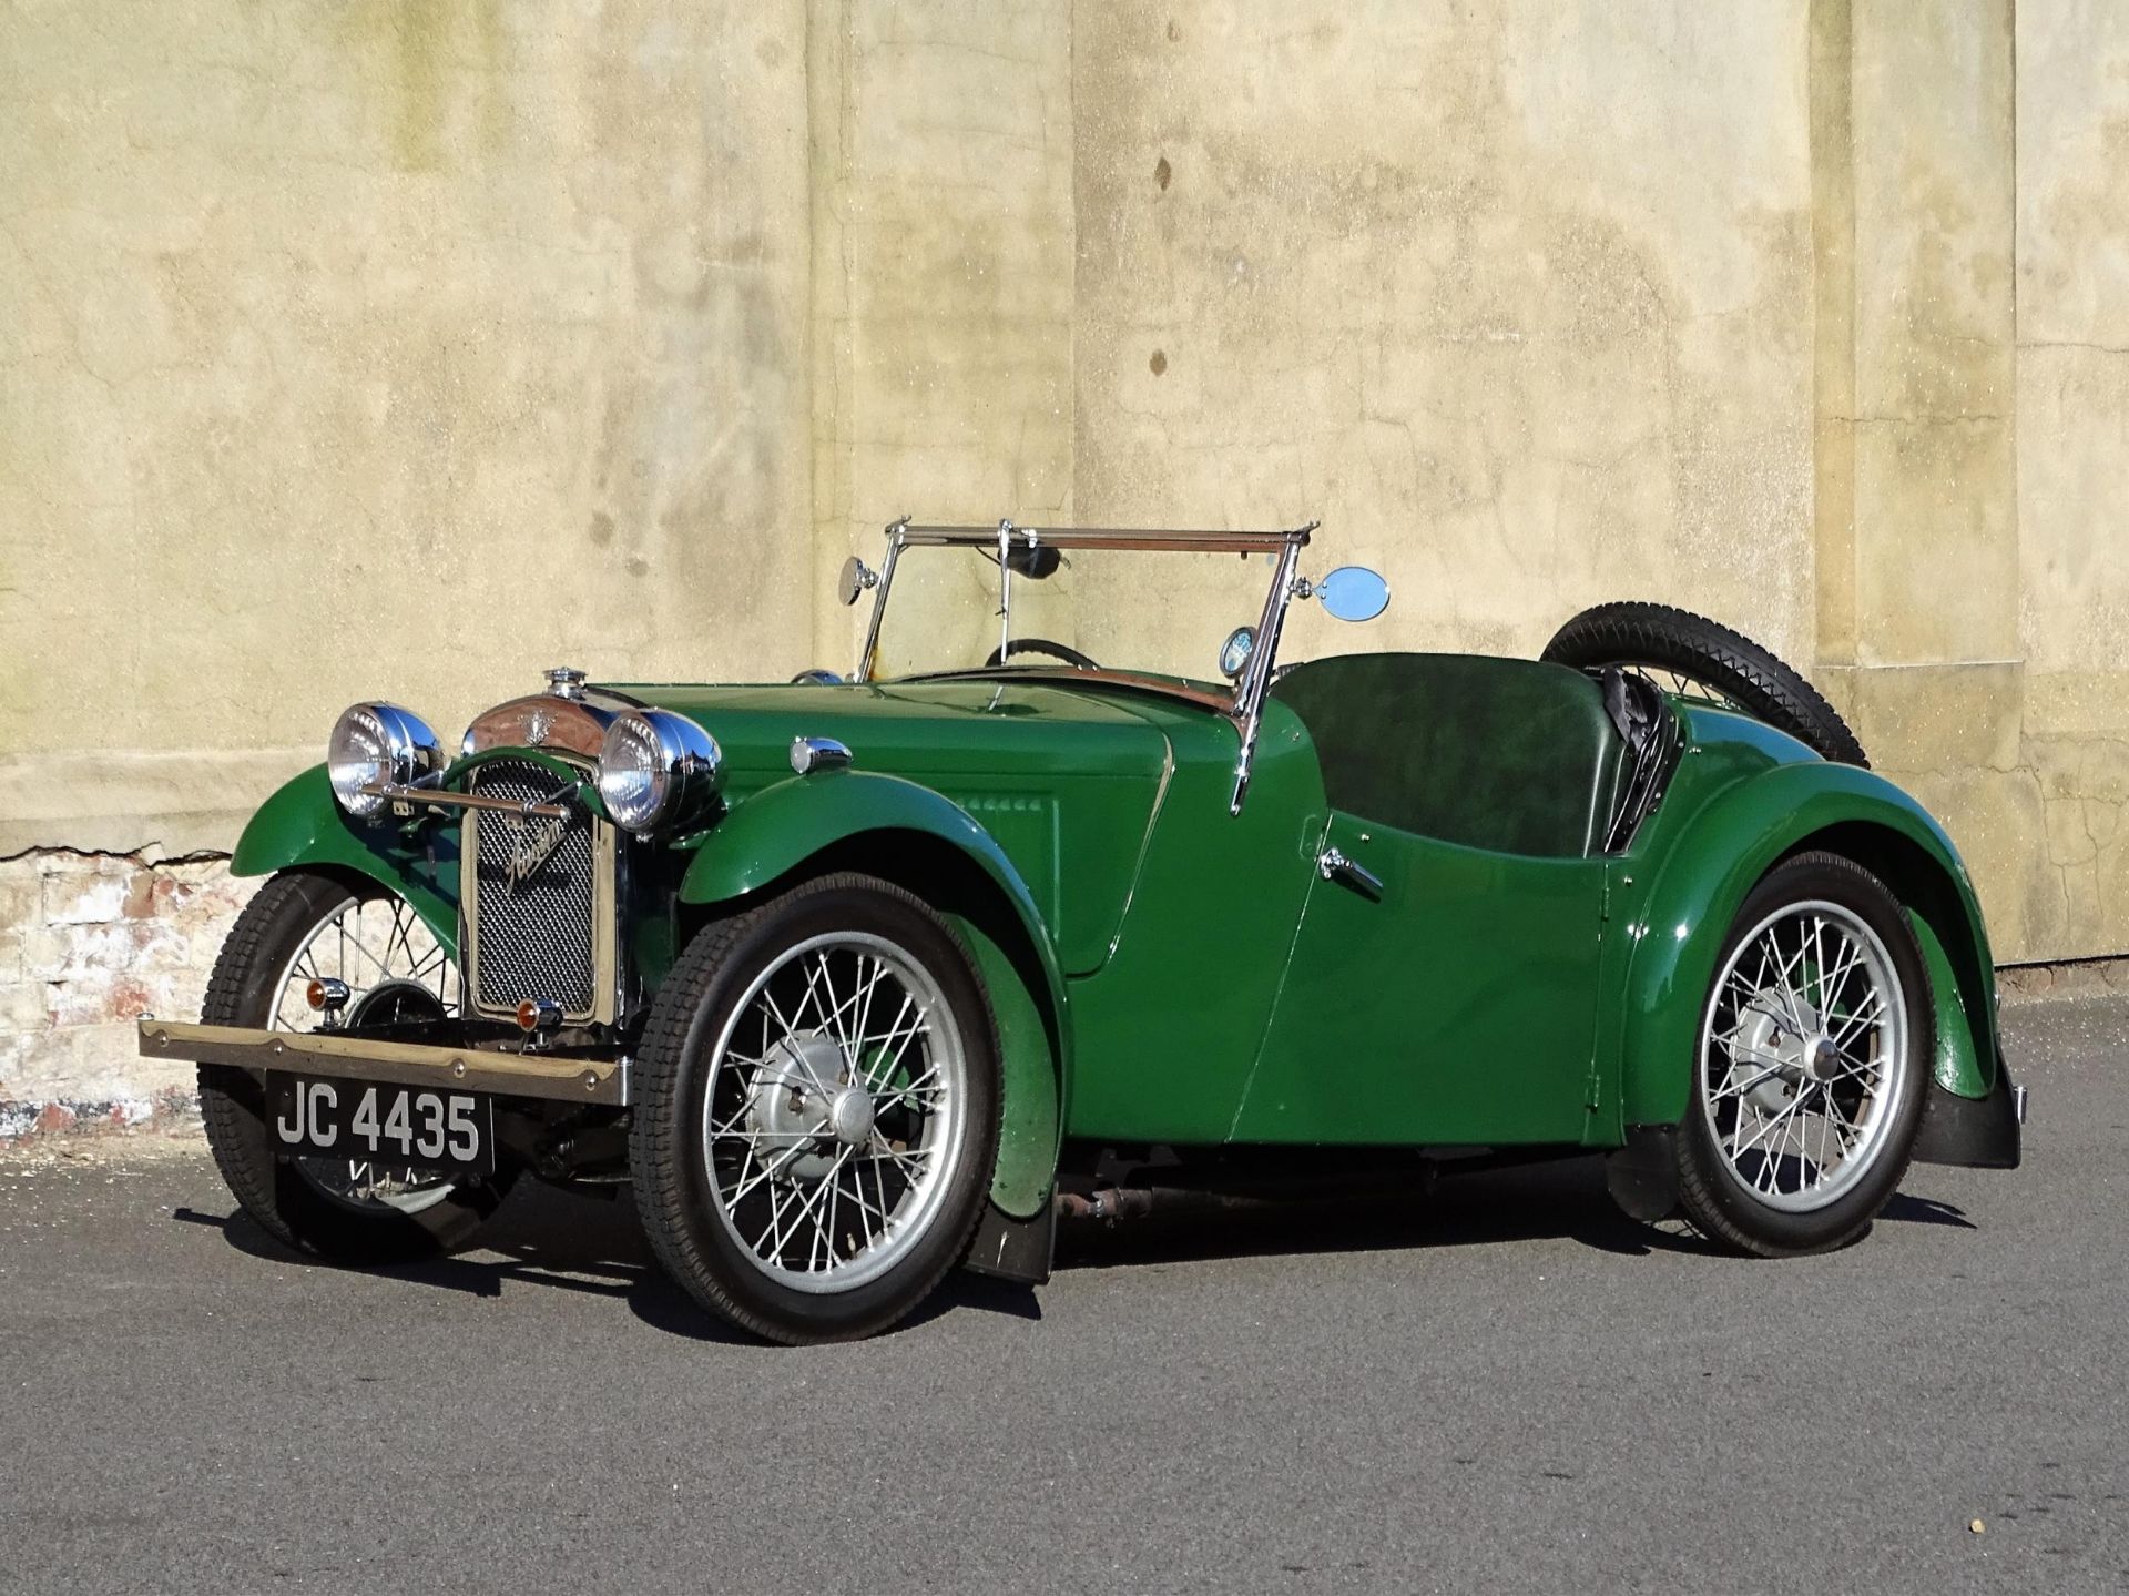
[(1605, 861), (1339, 812), (1324, 848), (1356, 869), (1309, 889), (1233, 1138), (1580, 1142)]

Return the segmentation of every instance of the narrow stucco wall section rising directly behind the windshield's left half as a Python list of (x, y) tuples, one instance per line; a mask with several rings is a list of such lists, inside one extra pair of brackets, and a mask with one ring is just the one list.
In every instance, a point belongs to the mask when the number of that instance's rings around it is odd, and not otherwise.
[(1073, 514), (1073, 9), (815, 0), (809, 661), (879, 528)]

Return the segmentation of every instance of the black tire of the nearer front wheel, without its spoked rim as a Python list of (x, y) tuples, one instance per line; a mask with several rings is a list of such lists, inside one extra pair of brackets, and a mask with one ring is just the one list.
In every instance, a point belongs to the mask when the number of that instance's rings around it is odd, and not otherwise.
[[(886, 1274), (849, 1291), (807, 1293), (771, 1281), (711, 1206), (703, 1166), (705, 1055), (754, 978), (822, 931), (873, 931), (911, 952), (954, 1008), (969, 1055), (969, 1142), (930, 1229)], [(975, 961), (922, 899), (873, 876), (822, 876), (696, 933), (658, 989), (632, 1072), (628, 1163), (658, 1261), (696, 1302), (764, 1340), (809, 1345), (877, 1334), (962, 1261), (999, 1151), (996, 1021)]]

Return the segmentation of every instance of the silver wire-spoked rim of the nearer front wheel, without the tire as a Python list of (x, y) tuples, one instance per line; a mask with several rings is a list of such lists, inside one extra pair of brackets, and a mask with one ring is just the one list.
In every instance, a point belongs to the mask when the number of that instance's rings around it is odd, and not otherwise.
[(703, 1161), (720, 1223), (794, 1291), (894, 1268), (962, 1153), (969, 1057), (935, 976), (841, 931), (781, 952), (715, 1040)]

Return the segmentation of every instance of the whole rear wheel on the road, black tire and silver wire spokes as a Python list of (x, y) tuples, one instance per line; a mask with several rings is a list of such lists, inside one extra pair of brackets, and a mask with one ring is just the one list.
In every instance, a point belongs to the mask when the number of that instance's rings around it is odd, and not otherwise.
[(1831, 852), (1769, 872), (1724, 940), (1673, 1138), (1695, 1227), (1759, 1257), (1861, 1236), (1914, 1153), (1933, 1014), (1884, 882)]

